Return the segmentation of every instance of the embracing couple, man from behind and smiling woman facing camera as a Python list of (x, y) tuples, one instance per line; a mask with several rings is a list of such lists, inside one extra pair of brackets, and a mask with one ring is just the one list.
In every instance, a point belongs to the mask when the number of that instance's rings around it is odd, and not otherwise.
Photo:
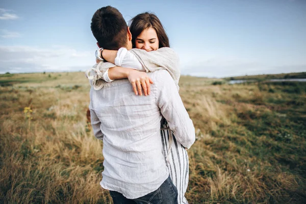
[(162, 23), (141, 13), (127, 27), (107, 6), (94, 13), (91, 30), (100, 47), (86, 74), (93, 133), (104, 144), (101, 187), (115, 204), (188, 203), (186, 149), (195, 131), (179, 95), (179, 59)]

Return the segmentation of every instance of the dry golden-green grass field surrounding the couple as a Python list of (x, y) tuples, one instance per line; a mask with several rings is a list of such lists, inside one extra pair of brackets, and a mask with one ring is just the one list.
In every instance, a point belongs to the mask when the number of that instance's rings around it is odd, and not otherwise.
[[(215, 81), (180, 80), (196, 128), (189, 202), (306, 203), (306, 83)], [(85, 74), (3, 74), (0, 83), (0, 203), (111, 203)]]

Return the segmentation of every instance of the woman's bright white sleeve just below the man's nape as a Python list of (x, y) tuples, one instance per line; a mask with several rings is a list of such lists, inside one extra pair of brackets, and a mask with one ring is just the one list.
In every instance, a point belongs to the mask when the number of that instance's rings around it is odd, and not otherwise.
[(117, 56), (115, 58), (115, 65), (119, 67), (136, 69), (138, 71), (145, 71), (144, 67), (139, 62), (134, 53), (129, 52), (124, 47), (121, 47), (118, 50)]

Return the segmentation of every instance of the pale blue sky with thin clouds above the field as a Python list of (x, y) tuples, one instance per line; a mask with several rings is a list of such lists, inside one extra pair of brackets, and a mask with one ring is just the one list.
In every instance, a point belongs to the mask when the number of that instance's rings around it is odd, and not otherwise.
[(184, 75), (306, 71), (306, 0), (2, 0), (0, 73), (91, 68), (97, 48), (91, 18), (108, 5), (127, 22), (154, 12)]

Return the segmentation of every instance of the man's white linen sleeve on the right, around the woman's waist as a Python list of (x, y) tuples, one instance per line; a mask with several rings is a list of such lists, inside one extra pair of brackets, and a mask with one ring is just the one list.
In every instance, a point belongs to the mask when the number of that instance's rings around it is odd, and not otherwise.
[(166, 70), (158, 80), (158, 104), (162, 115), (168, 121), (175, 139), (188, 149), (195, 141), (195, 130), (176, 86)]

